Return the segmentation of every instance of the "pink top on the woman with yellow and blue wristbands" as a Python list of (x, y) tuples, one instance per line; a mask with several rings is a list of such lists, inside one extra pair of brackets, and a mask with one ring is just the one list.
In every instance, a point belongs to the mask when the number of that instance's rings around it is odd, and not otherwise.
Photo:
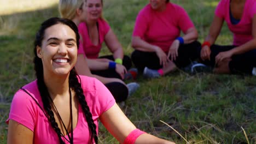
[(105, 35), (109, 32), (110, 26), (106, 21), (103, 19), (98, 19), (98, 45), (94, 45), (91, 42), (91, 39), (89, 37), (88, 33), (88, 27), (86, 26), (85, 22), (80, 23), (78, 26), (79, 33), (82, 35), (83, 42), (80, 44), (78, 49), (78, 55), (79, 54), (85, 54), (88, 58), (98, 58), (98, 54), (101, 51), (102, 43), (105, 39)]

